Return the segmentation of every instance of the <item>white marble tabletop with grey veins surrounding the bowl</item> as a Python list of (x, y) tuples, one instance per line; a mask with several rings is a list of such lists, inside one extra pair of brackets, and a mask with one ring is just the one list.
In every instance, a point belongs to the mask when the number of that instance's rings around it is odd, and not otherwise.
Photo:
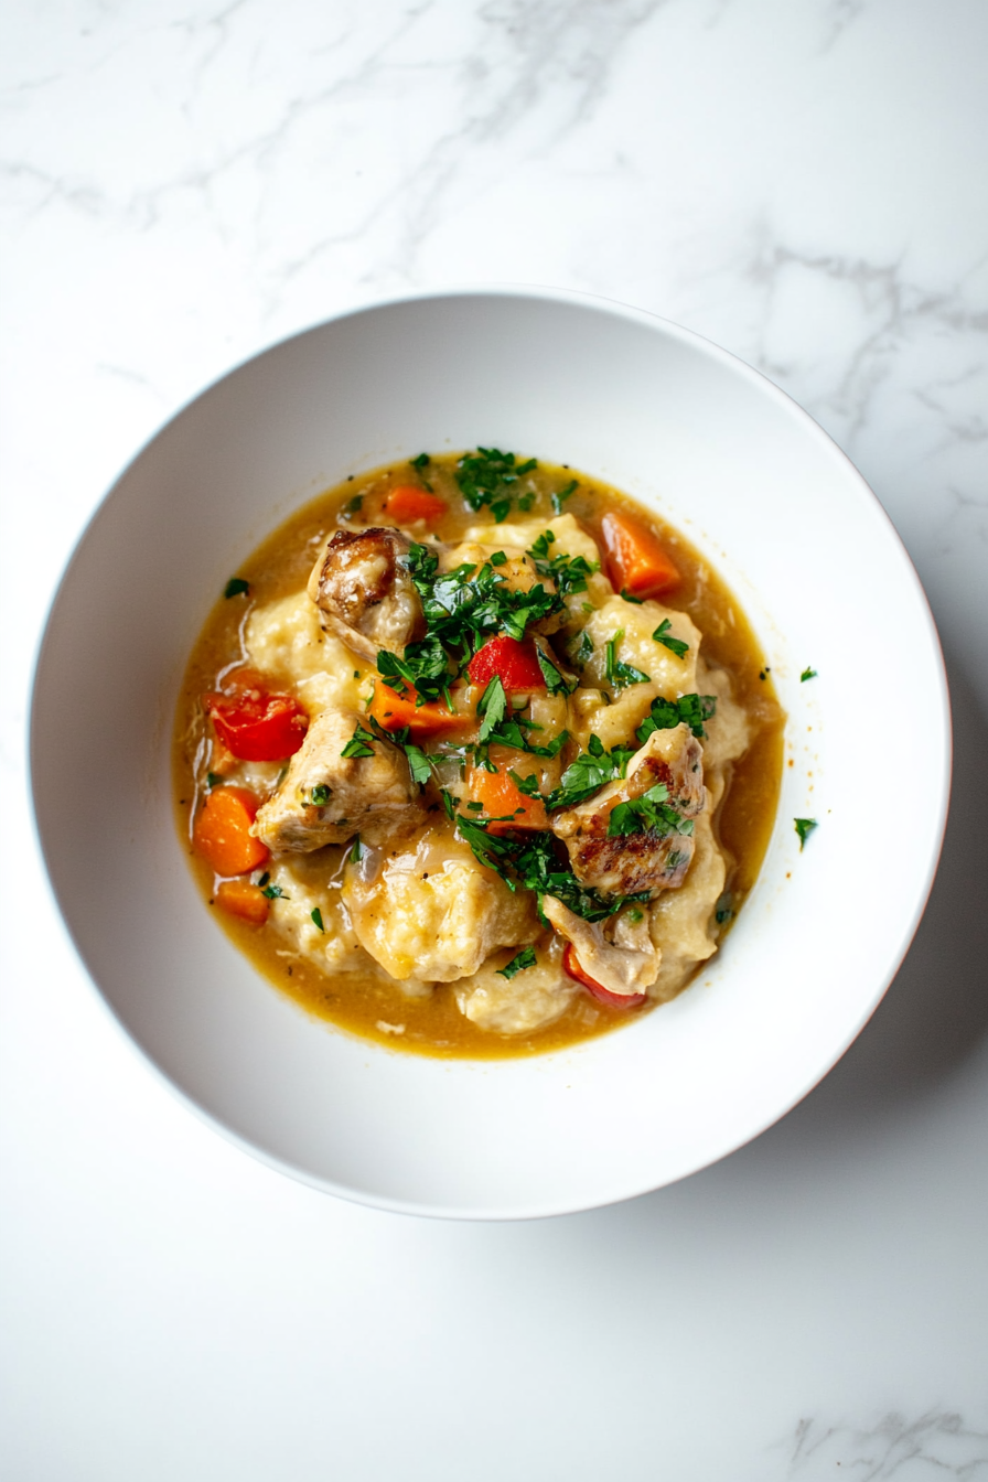
[[(988, 7), (0, 24), (3, 1475), (988, 1478)], [(61, 934), (24, 765), (56, 575), (141, 442), (290, 330), (481, 280), (655, 310), (795, 396), (909, 548), (957, 726), (930, 908), (824, 1085), (677, 1187), (505, 1227), (336, 1203), (172, 1101)], [(881, 796), (880, 750), (923, 697), (889, 716), (875, 674), (855, 719), (874, 805), (921, 808), (923, 778)]]

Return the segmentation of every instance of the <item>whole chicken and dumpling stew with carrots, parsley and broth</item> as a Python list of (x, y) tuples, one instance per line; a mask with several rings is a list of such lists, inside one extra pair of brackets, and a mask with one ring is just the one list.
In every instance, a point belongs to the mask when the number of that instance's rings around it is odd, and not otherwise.
[(241, 950), (320, 1017), (425, 1054), (551, 1049), (717, 950), (782, 725), (678, 532), (567, 467), (421, 455), (231, 576), (179, 698), (181, 836)]

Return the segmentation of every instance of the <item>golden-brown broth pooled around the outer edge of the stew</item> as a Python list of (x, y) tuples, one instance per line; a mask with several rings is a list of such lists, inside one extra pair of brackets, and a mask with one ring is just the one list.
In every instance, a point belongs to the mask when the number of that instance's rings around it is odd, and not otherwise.
[[(530, 1033), (492, 1033), (461, 1012), (456, 983), (440, 983), (431, 996), (410, 997), (382, 971), (326, 971), (273, 929), (271, 922), (256, 926), (219, 910), (218, 877), (191, 842), (196, 811), (210, 782), (216, 781), (209, 771), (215, 741), (210, 738), (201, 697), (222, 689), (227, 676), (244, 664), (244, 634), (250, 615), (305, 588), (316, 556), (335, 529), (358, 531), (397, 523), (388, 517), (385, 502), (393, 489), (409, 482), (421, 480), (444, 501), (444, 511), (428, 525), (428, 535), (440, 542), (456, 545), (468, 529), (493, 523), (501, 511), (477, 511), (464, 499), (456, 480), (461, 456), (433, 456), (427, 468), (415, 471), (401, 462), (348, 479), (293, 514), (240, 568), (236, 576), (247, 590), (218, 600), (193, 651), (182, 683), (173, 744), (175, 797), (181, 839), (204, 900), (238, 948), (281, 991), (308, 1012), (390, 1048), (437, 1057), (501, 1058), (573, 1045), (632, 1021), (652, 1005), (612, 1008), (579, 991), (550, 1024)], [(572, 485), (575, 488), (570, 489)], [(720, 940), (757, 879), (779, 794), (785, 717), (778, 705), (772, 677), (766, 673), (764, 657), (724, 582), (678, 531), (655, 514), (567, 467), (539, 464), (518, 488), (523, 489), (521, 495), (515, 494), (511, 510), (505, 511), (508, 525), (524, 522), (527, 526), (535, 522), (544, 526), (564, 511), (600, 547), (601, 520), (609, 511), (624, 511), (653, 531), (680, 574), (675, 591), (662, 600), (689, 615), (701, 630), (707, 664), (717, 665), (730, 676), (732, 700), (747, 717), (748, 744), (741, 756), (723, 768), (724, 790), (714, 812), (714, 837), (727, 871), (711, 914), (711, 931)], [(415, 539), (425, 538), (422, 528), (410, 529)], [(373, 683), (373, 664), (356, 654), (351, 658), (354, 679)], [(292, 688), (295, 679), (287, 667), (283, 673), (265, 677), (286, 689)], [(274, 785), (278, 768), (271, 771), (268, 785)], [(440, 825), (449, 828), (452, 839), (452, 823), (438, 820), (437, 827)], [(321, 889), (332, 889), (344, 879), (348, 852), (348, 843), (326, 845), (304, 857), (299, 868), (304, 876), (318, 879)], [(277, 916), (278, 907), (280, 901), (274, 898), (273, 916)], [(332, 929), (332, 923), (326, 923), (326, 929)], [(702, 963), (695, 971), (699, 968)]]

